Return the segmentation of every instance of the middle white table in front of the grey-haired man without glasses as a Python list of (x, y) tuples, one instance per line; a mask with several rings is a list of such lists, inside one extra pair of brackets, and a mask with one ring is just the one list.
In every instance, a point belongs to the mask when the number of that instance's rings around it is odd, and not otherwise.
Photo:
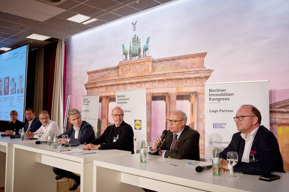
[[(56, 191), (55, 174), (52, 167), (61, 168), (80, 174), (80, 191), (92, 191), (93, 160), (107, 157), (129, 155), (129, 151), (95, 150), (96, 153), (68, 155), (57, 152), (52, 146), (35, 143), (13, 145), (12, 191)], [(73, 149), (82, 147), (71, 147)]]

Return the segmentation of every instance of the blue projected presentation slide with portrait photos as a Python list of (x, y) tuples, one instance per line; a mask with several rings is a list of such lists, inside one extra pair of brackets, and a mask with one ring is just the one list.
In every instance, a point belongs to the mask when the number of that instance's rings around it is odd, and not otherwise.
[(11, 121), (10, 111), (24, 120), (28, 45), (0, 54), (0, 120)]

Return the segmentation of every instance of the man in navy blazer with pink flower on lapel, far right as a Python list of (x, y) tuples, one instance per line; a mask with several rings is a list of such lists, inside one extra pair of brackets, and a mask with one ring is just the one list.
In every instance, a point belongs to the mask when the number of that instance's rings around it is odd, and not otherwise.
[(237, 130), (228, 147), (219, 153), (221, 171), (231, 169), (227, 152), (238, 153), (234, 171), (265, 175), (271, 171), (283, 172), (283, 160), (274, 134), (261, 124), (261, 113), (253, 105), (242, 105), (236, 113)]

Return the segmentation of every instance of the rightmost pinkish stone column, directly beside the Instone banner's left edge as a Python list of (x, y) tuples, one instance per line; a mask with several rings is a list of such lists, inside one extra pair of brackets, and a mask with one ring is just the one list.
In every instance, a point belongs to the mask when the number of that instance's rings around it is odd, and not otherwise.
[(205, 92), (197, 93), (197, 127), (200, 134), (200, 158), (205, 158)]

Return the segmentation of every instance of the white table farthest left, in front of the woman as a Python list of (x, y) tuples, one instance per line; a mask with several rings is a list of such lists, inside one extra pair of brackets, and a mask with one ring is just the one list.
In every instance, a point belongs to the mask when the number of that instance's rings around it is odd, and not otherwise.
[[(0, 132), (0, 134), (4, 133)], [(0, 136), (0, 187), (5, 186), (5, 192), (11, 191), (12, 185), (13, 143), (22, 142), (35, 142), (35, 140), (21, 141), (20, 138), (11, 139), (9, 136)]]

